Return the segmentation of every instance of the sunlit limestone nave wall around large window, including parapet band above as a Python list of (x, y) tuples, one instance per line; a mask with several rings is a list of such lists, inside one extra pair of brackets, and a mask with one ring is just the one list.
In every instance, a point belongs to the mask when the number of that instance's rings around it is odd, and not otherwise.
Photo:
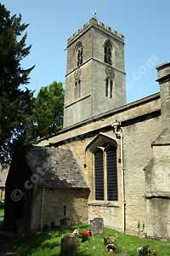
[[(53, 143), (56, 142), (56, 147), (70, 148), (77, 158), (79, 165), (82, 167), (84, 177), (89, 183), (87, 155), (85, 149), (88, 144), (94, 140), (94, 137), (99, 134), (99, 127), (102, 134), (116, 139), (116, 135), (112, 131), (111, 121), (115, 119), (126, 120), (136, 117), (133, 122), (127, 122), (127, 125), (122, 127), (123, 132), (123, 151), (124, 151), (124, 167), (125, 167), (125, 197), (126, 197), (126, 229), (129, 233), (138, 231), (138, 222), (146, 225), (146, 200), (144, 198), (145, 182), (144, 182), (144, 166), (152, 157), (151, 143), (156, 140), (156, 137), (161, 130), (161, 117), (154, 114), (146, 116), (144, 119), (139, 119), (140, 114), (149, 114), (157, 111), (160, 107), (159, 99), (139, 105), (136, 108), (129, 108), (125, 112), (112, 114), (111, 117), (98, 119), (94, 123), (80, 126), (71, 131), (65, 131), (58, 137), (53, 137)], [(103, 126), (103, 127), (102, 127)], [(71, 138), (71, 135), (74, 137)], [(77, 136), (76, 136), (77, 135)], [(68, 139), (67, 139), (68, 137)], [(65, 138), (65, 140), (61, 140)], [(120, 151), (120, 140), (117, 150)], [(51, 142), (51, 139), (49, 139)], [(47, 142), (46, 142), (47, 143)], [(120, 152), (117, 153), (120, 157)], [(88, 200), (88, 218), (103, 217), (105, 225), (122, 229), (122, 181), (121, 181), (121, 165), (117, 162), (117, 181), (118, 181), (118, 198), (119, 200), (113, 204), (99, 203), (91, 201), (91, 196)], [(92, 193), (92, 191), (91, 191)]]

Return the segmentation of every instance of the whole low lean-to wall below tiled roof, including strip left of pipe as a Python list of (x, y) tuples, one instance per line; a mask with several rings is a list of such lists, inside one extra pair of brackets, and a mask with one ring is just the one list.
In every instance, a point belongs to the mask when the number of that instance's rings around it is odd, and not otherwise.
[[(61, 218), (71, 218), (71, 223), (88, 223), (88, 189), (44, 189), (42, 210), (42, 188), (34, 193), (31, 230), (39, 230), (52, 223), (59, 225)], [(64, 210), (65, 208), (65, 210)]]

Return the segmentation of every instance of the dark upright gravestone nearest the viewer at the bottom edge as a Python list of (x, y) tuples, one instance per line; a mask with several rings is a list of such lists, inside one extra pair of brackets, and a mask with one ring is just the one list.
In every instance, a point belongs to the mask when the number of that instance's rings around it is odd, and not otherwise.
[(60, 255), (75, 255), (77, 251), (77, 237), (76, 236), (64, 236), (61, 239)]

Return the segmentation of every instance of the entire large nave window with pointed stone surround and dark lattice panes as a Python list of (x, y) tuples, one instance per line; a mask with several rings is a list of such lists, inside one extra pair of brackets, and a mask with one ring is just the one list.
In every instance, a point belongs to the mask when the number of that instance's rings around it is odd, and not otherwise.
[(92, 191), (89, 200), (93, 203), (118, 201), (117, 143), (115, 139), (99, 133), (86, 148), (88, 183)]

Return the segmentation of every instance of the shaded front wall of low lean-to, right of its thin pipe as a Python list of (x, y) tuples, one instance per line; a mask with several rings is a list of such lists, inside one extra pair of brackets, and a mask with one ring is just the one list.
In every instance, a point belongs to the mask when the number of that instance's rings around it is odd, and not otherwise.
[[(72, 223), (88, 222), (88, 191), (81, 189), (45, 189), (43, 224), (59, 224), (61, 218)], [(65, 209), (64, 209), (65, 207)]]

